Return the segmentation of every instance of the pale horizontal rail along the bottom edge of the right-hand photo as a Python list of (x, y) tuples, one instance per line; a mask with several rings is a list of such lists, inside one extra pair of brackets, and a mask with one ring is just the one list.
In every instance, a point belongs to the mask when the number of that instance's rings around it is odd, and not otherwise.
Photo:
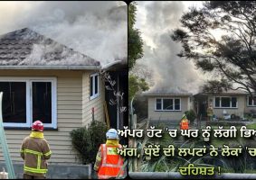
[(256, 174), (180, 175), (178, 172), (129, 172), (132, 179), (256, 179)]

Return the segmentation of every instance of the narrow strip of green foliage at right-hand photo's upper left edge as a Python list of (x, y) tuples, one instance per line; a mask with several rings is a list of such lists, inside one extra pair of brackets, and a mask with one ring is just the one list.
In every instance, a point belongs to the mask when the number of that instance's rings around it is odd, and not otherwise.
[(140, 31), (134, 27), (136, 23), (136, 3), (128, 5), (128, 68), (131, 69), (136, 64), (138, 58), (143, 57), (143, 41)]

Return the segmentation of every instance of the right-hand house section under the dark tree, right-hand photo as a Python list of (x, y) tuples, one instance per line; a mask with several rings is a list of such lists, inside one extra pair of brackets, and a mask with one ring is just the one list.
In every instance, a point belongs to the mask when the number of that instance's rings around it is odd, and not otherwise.
[(223, 114), (244, 118), (244, 114), (256, 111), (256, 101), (242, 90), (228, 90), (218, 94), (199, 93), (194, 95), (195, 112), (202, 118), (206, 117), (208, 105), (213, 105), (213, 114), (223, 118)]

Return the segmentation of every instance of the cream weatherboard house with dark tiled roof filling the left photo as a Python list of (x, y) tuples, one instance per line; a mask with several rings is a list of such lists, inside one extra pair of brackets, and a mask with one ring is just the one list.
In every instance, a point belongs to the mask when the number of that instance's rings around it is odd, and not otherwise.
[[(23, 161), (20, 146), (33, 121), (44, 123), (50, 163), (79, 164), (71, 130), (93, 117), (104, 121), (100, 62), (28, 28), (0, 36), (0, 91), (11, 158)], [(0, 154), (1, 159), (3, 153)]]

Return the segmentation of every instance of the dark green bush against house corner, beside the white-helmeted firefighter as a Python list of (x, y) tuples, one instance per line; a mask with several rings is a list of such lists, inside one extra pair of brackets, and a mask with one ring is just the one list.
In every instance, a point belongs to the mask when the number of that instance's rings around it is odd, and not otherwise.
[(84, 126), (71, 131), (73, 148), (79, 152), (83, 164), (95, 162), (100, 144), (106, 141), (107, 130), (107, 125), (104, 122), (92, 121), (88, 128)]

